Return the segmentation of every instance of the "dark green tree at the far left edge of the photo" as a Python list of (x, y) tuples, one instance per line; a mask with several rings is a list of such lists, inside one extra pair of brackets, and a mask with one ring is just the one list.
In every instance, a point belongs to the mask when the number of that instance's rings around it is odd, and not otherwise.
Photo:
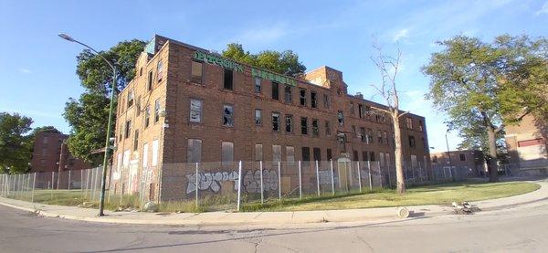
[(28, 172), (32, 150), (32, 119), (17, 113), (0, 113), (0, 173), (23, 174)]

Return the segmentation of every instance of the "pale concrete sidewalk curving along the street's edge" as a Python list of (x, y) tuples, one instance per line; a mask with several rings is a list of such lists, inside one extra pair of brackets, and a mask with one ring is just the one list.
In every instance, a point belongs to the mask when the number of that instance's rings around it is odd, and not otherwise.
[[(548, 200), (548, 182), (532, 181), (540, 184), (541, 188), (529, 194), (511, 197), (472, 202), (483, 211), (520, 206), (537, 201)], [(29, 203), (10, 198), (0, 197), (0, 205), (26, 210), (41, 216), (62, 217), (91, 222), (107, 222), (142, 225), (178, 225), (178, 226), (232, 226), (232, 225), (290, 225), (321, 222), (356, 222), (371, 220), (393, 220), (396, 217), (395, 207), (299, 211), (299, 212), (247, 212), (247, 213), (143, 213), (143, 212), (111, 212), (105, 211), (107, 216), (96, 216), (97, 209), (81, 208), (77, 206), (52, 206), (39, 203)], [(407, 206), (412, 216), (442, 216), (453, 214), (452, 206)]]

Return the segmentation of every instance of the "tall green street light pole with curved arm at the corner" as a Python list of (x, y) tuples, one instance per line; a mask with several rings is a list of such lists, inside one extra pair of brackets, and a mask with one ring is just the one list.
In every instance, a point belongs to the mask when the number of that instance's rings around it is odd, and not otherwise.
[(84, 47), (89, 48), (91, 51), (93, 51), (96, 55), (100, 56), (112, 69), (112, 90), (111, 90), (111, 105), (109, 109), (109, 123), (107, 125), (107, 138), (105, 140), (105, 155), (103, 157), (103, 167), (102, 167), (102, 178), (100, 181), (100, 201), (99, 201), (99, 214), (98, 216), (104, 216), (103, 210), (105, 206), (105, 187), (107, 182), (107, 163), (109, 162), (109, 151), (110, 151), (110, 142), (111, 142), (111, 127), (112, 127), (112, 114), (114, 109), (114, 97), (116, 93), (116, 68), (114, 65), (107, 59), (104, 58), (97, 50), (93, 49), (92, 47), (79, 42), (78, 40), (66, 35), (66, 34), (59, 34), (58, 35), (61, 38), (64, 38), (70, 42), (78, 43), (79, 45), (82, 45)]

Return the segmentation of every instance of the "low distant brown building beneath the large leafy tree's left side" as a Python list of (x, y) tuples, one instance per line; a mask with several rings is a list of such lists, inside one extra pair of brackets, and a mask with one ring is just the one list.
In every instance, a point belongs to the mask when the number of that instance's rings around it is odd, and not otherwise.
[(432, 168), (446, 169), (448, 173), (454, 175), (455, 179), (482, 177), (487, 171), (483, 152), (480, 150), (430, 153), (430, 161), (432, 161)]

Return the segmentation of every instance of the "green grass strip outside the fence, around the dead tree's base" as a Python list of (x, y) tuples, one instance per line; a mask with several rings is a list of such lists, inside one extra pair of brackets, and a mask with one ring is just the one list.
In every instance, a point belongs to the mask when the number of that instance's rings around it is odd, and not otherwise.
[(379, 190), (370, 194), (330, 197), (307, 197), (302, 200), (248, 204), (244, 211), (308, 211), (353, 209), (385, 206), (450, 205), (453, 201), (479, 201), (522, 195), (539, 189), (539, 184), (527, 182), (478, 183), (461, 182), (433, 184), (408, 188), (405, 195), (395, 190)]

